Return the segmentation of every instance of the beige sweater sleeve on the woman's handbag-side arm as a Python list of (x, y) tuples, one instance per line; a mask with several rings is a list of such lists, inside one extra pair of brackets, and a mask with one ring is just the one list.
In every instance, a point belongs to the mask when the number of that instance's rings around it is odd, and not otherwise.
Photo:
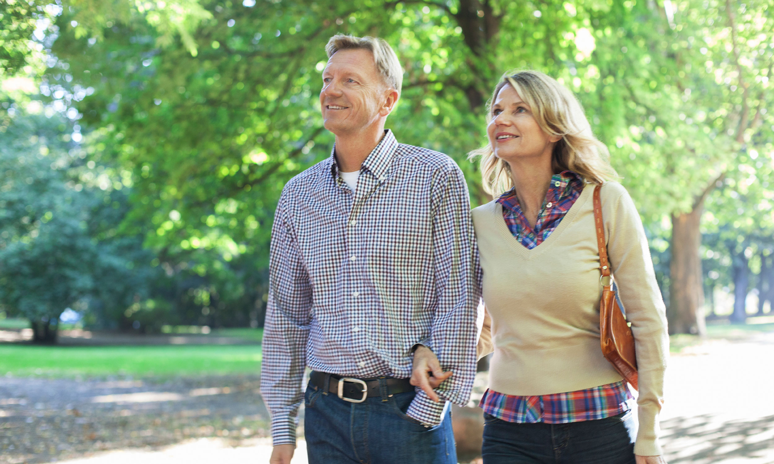
[(632, 323), (637, 353), (639, 432), (634, 452), (661, 455), (658, 416), (663, 404), (664, 372), (669, 357), (666, 309), (650, 257), (648, 239), (632, 198), (618, 183), (601, 192), (610, 265), (626, 319)]

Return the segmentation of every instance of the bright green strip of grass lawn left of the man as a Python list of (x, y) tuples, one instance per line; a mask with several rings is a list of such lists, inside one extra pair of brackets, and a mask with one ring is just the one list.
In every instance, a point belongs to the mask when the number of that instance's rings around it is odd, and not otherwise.
[(258, 374), (259, 345), (33, 346), (0, 344), (0, 376)]

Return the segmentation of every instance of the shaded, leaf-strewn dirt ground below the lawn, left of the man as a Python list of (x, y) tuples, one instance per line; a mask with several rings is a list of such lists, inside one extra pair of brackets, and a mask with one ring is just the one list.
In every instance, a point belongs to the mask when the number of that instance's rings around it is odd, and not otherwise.
[(257, 377), (0, 379), (0, 464), (268, 435)]

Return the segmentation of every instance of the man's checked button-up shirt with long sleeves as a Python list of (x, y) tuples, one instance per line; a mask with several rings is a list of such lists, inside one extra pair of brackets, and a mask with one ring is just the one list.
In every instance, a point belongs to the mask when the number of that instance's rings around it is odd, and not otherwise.
[[(473, 386), (478, 254), (461, 170), (385, 131), (353, 194), (334, 153), (290, 179), (274, 218), (261, 393), (275, 445), (295, 442), (304, 367), (408, 378), (421, 341), (454, 371), (442, 399), (465, 404)], [(437, 425), (443, 408), (417, 391), (407, 414)]]

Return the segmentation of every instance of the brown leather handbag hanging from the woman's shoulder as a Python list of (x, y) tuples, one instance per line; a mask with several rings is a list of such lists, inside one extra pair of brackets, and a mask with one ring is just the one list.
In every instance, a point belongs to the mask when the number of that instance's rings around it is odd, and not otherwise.
[(637, 357), (634, 348), (634, 336), (631, 324), (618, 306), (613, 290), (613, 275), (608, 261), (608, 247), (604, 241), (604, 222), (602, 221), (602, 202), (600, 190), (602, 184), (594, 187), (594, 223), (597, 228), (599, 247), (599, 281), (602, 285), (602, 299), (599, 302), (599, 330), (602, 354), (621, 374), (621, 377), (637, 390)]

